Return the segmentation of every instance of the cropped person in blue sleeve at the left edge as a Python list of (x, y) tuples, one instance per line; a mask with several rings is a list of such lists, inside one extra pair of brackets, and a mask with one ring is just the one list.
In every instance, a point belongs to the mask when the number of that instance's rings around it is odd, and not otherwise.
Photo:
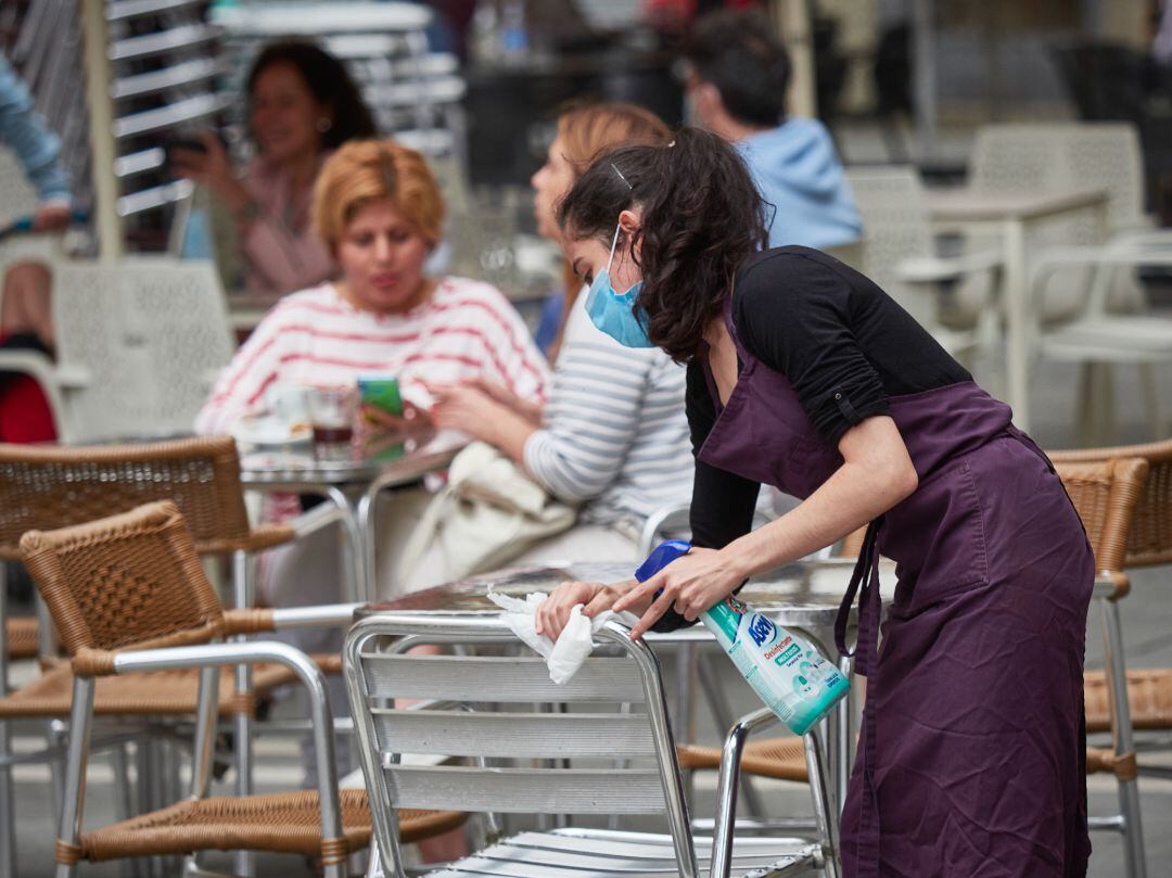
[[(52, 232), (69, 223), (69, 179), (61, 168), (61, 139), (33, 109), (28, 87), (0, 55), (0, 142), (15, 152), (36, 190), (34, 232)], [(18, 261), (4, 277), (0, 347), (35, 349), (53, 355), (49, 311), (50, 277), (39, 260)], [(0, 377), (0, 440), (45, 442), (55, 438), (53, 415), (36, 382), (27, 375)]]

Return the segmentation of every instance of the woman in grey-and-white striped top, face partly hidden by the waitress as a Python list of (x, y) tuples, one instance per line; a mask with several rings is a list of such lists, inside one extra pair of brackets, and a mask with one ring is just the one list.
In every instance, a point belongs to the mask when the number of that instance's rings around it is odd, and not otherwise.
[[(654, 114), (629, 104), (577, 107), (558, 120), (558, 136), (533, 176), (540, 232), (559, 239), (557, 207), (597, 156), (631, 144), (665, 145), (670, 132)], [(634, 561), (645, 519), (687, 501), (693, 474), (683, 369), (661, 350), (625, 348), (592, 322), (591, 302), (570, 291), (553, 390), (544, 408), (500, 388), (440, 388), (431, 417), (496, 445), (554, 497), (582, 504), (578, 523), (516, 563), (554, 558)], [(444, 577), (420, 564), (407, 590)]]

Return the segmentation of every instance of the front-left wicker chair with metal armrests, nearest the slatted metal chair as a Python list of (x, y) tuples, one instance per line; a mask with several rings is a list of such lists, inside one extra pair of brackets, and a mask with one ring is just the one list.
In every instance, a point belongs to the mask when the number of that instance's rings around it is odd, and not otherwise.
[[(361, 792), (338, 792), (333, 720), (321, 671), (286, 644), (211, 641), (289, 624), (346, 624), (354, 605), (315, 612), (224, 611), (183, 516), (170, 502), (59, 531), (30, 531), (20, 545), (74, 672), (57, 876), (75, 874), (82, 859), (239, 849), (314, 856), (327, 876), (346, 874), (348, 856), (369, 842), (370, 818)], [(319, 789), (207, 798), (219, 667), (258, 661), (288, 668), (311, 695)], [(82, 833), (86, 762), (98, 681), (138, 671), (178, 668), (199, 668), (200, 678), (191, 797)], [(411, 818), (404, 836), (420, 838), (459, 825), (463, 815), (425, 812)]]

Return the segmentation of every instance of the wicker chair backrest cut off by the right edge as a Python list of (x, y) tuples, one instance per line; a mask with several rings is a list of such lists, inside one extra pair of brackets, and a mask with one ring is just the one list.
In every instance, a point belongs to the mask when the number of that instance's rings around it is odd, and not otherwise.
[(1050, 457), (1061, 467), (1120, 457), (1147, 461), (1147, 483), (1131, 520), (1124, 564), (1129, 567), (1172, 564), (1172, 440), (1145, 445), (1054, 451)]

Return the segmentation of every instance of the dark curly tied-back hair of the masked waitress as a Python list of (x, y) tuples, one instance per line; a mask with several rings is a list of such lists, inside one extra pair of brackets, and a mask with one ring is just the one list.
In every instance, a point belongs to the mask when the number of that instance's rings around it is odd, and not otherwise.
[(765, 204), (741, 154), (716, 135), (683, 128), (665, 147), (606, 152), (561, 200), (558, 222), (572, 240), (609, 247), (619, 215), (640, 211), (620, 237), (639, 265), (635, 301), (647, 335), (676, 362), (696, 355), (704, 327), (732, 292), (737, 270), (768, 245)]

